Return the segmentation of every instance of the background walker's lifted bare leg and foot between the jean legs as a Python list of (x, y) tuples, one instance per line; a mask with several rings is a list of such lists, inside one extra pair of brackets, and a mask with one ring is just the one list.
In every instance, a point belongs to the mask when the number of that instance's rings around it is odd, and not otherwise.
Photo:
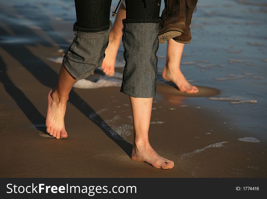
[(115, 19), (113, 28), (109, 35), (109, 45), (105, 51), (105, 58), (102, 62), (101, 68), (106, 75), (113, 76), (115, 71), (117, 52), (120, 46), (123, 28), (122, 20), (126, 17), (126, 10), (120, 7)]

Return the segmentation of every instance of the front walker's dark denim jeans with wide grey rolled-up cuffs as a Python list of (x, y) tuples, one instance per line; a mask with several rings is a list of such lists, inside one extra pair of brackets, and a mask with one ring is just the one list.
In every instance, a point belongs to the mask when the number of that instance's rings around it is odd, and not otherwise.
[[(160, 6), (154, 0), (126, 0), (123, 19), (125, 66), (120, 92), (135, 98), (152, 98), (157, 86)], [(66, 70), (83, 79), (100, 67), (112, 28), (111, 0), (76, 0), (75, 38), (63, 58)]]

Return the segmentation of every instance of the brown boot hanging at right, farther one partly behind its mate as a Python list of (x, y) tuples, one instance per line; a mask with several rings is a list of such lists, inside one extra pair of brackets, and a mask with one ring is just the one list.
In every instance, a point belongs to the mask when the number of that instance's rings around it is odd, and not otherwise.
[(191, 33), (190, 33), (190, 24), (192, 15), (194, 12), (195, 7), (197, 6), (198, 0), (187, 0), (186, 1), (186, 20), (185, 20), (185, 28), (184, 32), (177, 37), (174, 37), (173, 40), (182, 43), (182, 44), (189, 44), (191, 42)]

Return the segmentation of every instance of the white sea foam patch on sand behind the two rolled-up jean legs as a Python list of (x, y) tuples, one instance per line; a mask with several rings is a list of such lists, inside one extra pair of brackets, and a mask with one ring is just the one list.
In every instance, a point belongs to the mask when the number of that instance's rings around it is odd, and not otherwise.
[(93, 82), (86, 79), (78, 80), (73, 87), (75, 88), (102, 88), (102, 87), (110, 87), (110, 86), (121, 86), (122, 81), (117, 78), (100, 78), (97, 82)]

